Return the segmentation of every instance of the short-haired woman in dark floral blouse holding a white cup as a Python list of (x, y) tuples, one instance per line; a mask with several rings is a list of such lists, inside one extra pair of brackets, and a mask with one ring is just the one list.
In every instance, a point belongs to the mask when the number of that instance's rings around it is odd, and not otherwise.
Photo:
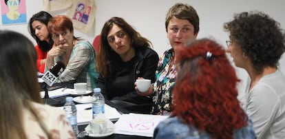
[(176, 3), (167, 12), (165, 28), (171, 49), (165, 51), (158, 62), (154, 86), (147, 92), (138, 93), (142, 96), (152, 96), (151, 113), (161, 115), (168, 115), (171, 111), (171, 86), (176, 78), (176, 47), (185, 46), (189, 41), (196, 39), (199, 32), (198, 14), (192, 6)]

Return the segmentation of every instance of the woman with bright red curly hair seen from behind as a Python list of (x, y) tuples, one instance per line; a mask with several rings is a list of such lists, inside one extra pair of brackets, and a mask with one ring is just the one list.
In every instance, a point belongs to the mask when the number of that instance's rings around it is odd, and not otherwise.
[(222, 46), (210, 39), (177, 47), (173, 111), (154, 138), (255, 138), (237, 100), (237, 76)]

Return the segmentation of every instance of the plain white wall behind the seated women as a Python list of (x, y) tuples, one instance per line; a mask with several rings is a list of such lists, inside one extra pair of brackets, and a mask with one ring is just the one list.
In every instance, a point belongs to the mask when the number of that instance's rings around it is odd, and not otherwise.
[[(96, 34), (100, 34), (101, 28), (110, 17), (123, 17), (128, 23), (134, 26), (142, 36), (149, 39), (154, 50), (162, 54), (169, 48), (165, 32), (165, 14), (174, 3), (189, 3), (196, 8), (200, 16), (200, 32), (198, 38), (213, 37), (222, 45), (229, 39), (228, 34), (223, 31), (222, 25), (226, 21), (233, 19), (233, 14), (249, 10), (262, 10), (279, 21), (282, 28), (285, 28), (284, 0), (94, 0), (96, 2), (96, 26), (88, 34), (83, 34), (75, 30), (76, 36), (81, 36), (93, 41)], [(27, 17), (30, 19), (32, 14), (43, 10), (43, 1), (26, 0)], [(65, 14), (65, 10), (51, 12), (51, 14)], [(0, 25), (0, 29), (16, 30), (34, 40), (28, 34), (26, 24), (22, 25)], [(280, 61), (282, 72), (285, 74), (285, 57)], [(237, 68), (237, 74), (245, 79), (246, 73)], [(240, 86), (243, 92), (244, 84)]]

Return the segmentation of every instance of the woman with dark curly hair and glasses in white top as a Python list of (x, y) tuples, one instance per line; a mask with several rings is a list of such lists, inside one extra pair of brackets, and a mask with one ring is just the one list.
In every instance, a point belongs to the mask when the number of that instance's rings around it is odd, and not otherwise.
[(285, 50), (284, 30), (262, 12), (242, 12), (224, 24), (228, 51), (249, 74), (242, 100), (258, 138), (284, 138), (285, 76), (278, 61)]

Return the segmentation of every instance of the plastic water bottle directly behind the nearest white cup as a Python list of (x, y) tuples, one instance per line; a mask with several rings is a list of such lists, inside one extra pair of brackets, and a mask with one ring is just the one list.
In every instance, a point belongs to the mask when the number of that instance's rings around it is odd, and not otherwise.
[(101, 94), (101, 88), (94, 88), (93, 97), (95, 100), (92, 102), (92, 111), (93, 118), (95, 118), (98, 114), (105, 114), (105, 98)]

